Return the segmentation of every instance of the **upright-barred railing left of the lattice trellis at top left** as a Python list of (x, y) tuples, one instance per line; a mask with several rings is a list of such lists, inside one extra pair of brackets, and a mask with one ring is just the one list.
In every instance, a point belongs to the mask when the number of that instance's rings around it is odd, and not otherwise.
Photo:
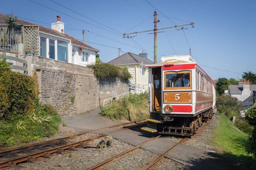
[(18, 38), (18, 30), (8, 26), (0, 26), (0, 49), (17, 53)]

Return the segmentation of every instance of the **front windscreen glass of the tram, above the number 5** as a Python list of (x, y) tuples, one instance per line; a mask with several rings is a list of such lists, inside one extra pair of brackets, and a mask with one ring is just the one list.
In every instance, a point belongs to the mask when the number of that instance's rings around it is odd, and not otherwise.
[(190, 73), (166, 74), (165, 87), (190, 87)]

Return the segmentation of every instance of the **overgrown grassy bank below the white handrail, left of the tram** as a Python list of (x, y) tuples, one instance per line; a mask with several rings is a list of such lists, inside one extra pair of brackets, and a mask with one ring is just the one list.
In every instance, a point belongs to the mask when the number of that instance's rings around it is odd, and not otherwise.
[(132, 94), (101, 107), (101, 115), (115, 120), (138, 120), (149, 117), (148, 93)]

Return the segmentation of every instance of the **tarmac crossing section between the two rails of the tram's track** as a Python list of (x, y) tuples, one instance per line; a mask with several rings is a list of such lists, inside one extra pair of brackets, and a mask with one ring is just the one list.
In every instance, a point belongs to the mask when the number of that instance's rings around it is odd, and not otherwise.
[(141, 148), (148, 150), (150, 152), (154, 152), (156, 154), (163, 154), (170, 147), (174, 146), (176, 142), (168, 141), (166, 139), (155, 139), (152, 142), (149, 142), (145, 145), (142, 145)]

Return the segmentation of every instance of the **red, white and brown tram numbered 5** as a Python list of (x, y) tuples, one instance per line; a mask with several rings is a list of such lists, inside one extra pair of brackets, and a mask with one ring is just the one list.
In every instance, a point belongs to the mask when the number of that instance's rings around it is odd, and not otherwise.
[(215, 85), (189, 56), (167, 56), (149, 68), (150, 118), (142, 130), (190, 136), (212, 117)]

